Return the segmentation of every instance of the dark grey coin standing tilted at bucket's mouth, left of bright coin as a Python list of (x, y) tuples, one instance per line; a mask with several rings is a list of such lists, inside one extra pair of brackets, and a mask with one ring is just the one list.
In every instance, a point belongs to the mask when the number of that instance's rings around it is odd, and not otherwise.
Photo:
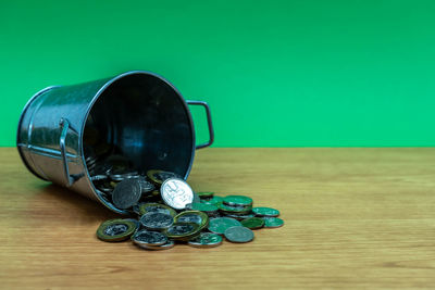
[(136, 179), (124, 179), (113, 190), (112, 201), (117, 209), (125, 210), (135, 205), (140, 197), (139, 182)]

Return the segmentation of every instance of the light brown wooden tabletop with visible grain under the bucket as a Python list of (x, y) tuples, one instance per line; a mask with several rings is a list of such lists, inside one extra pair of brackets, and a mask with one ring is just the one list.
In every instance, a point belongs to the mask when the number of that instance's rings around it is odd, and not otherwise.
[(250, 243), (148, 252), (99, 241), (116, 215), (0, 149), (0, 287), (435, 288), (435, 149), (204, 149), (197, 191), (250, 196), (285, 225)]

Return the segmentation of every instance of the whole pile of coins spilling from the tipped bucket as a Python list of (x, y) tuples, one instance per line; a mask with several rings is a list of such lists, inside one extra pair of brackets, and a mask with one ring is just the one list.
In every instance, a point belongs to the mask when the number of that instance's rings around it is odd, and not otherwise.
[[(117, 162), (122, 160), (117, 157)], [(252, 230), (284, 225), (277, 210), (252, 207), (249, 197), (195, 193), (175, 173), (151, 169), (139, 174), (120, 168), (95, 166), (91, 180), (102, 198), (137, 219), (103, 222), (97, 229), (102, 241), (130, 239), (140, 249), (152, 251), (167, 250), (176, 243), (214, 248), (222, 244), (223, 238), (235, 243), (250, 242), (254, 238)]]

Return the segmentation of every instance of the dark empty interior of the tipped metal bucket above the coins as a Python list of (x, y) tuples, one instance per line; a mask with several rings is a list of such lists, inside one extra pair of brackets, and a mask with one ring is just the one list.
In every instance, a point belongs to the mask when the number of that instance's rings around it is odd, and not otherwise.
[(108, 159), (123, 156), (139, 174), (162, 169), (187, 177), (194, 139), (181, 94), (158, 76), (134, 73), (112, 81), (90, 108), (84, 159), (89, 176), (104, 168)]

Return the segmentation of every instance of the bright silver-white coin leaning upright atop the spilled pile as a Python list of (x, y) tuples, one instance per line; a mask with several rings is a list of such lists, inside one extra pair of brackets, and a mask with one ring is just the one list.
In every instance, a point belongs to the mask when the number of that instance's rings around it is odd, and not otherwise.
[(179, 178), (169, 178), (160, 188), (160, 194), (169, 206), (183, 210), (194, 200), (194, 191), (189, 185)]

